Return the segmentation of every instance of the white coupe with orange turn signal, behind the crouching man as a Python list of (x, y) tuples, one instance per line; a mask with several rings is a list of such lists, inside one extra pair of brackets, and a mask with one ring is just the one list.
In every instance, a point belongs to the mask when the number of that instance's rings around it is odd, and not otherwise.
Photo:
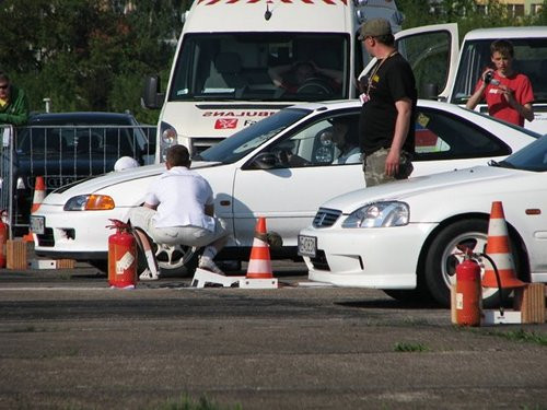
[[(296, 257), (298, 234), (312, 222), (317, 207), (364, 187), (361, 164), (339, 164), (338, 150), (325, 138), (334, 117), (356, 124), (360, 109), (358, 101), (288, 107), (195, 159), (193, 167), (216, 192), (217, 215), (233, 233), (219, 257), (248, 258), (257, 216), (265, 216), (268, 231), (282, 237), (283, 246), (271, 249), (272, 258)], [(538, 137), (444, 103), (420, 101), (418, 112), (414, 176), (504, 159)], [(113, 233), (105, 227), (108, 219), (127, 221), (164, 171), (160, 164), (110, 173), (51, 192), (31, 219), (36, 253), (104, 267)], [(178, 270), (195, 260), (194, 251), (159, 247), (156, 254), (163, 269)]]

